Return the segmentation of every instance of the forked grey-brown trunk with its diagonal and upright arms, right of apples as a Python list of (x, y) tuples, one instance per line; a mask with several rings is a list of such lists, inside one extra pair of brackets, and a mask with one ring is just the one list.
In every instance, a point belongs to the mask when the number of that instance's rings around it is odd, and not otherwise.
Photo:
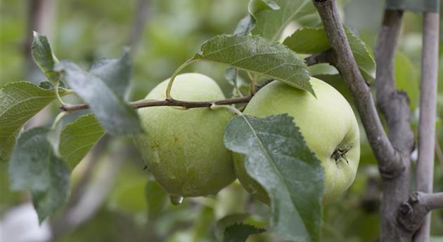
[(409, 99), (404, 92), (395, 88), (393, 72), (402, 12), (385, 12), (375, 51), (377, 105), (387, 121), (387, 135), (375, 109), (371, 88), (361, 76), (350, 50), (335, 0), (314, 0), (314, 5), (319, 11), (335, 55), (332, 64), (352, 93), (383, 178), (380, 241), (409, 241), (412, 232), (397, 221), (399, 208), (409, 194), (409, 157), (413, 149)]

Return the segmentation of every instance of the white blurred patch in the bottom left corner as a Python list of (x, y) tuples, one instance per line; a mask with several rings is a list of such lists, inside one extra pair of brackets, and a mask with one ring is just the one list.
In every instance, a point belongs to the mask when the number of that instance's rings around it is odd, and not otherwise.
[(47, 220), (39, 225), (32, 203), (10, 208), (0, 220), (0, 242), (44, 242), (51, 239)]

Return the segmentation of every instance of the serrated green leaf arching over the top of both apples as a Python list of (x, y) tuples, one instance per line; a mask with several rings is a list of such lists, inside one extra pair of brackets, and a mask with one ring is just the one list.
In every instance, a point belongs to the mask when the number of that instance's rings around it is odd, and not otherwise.
[(193, 60), (210, 60), (256, 72), (314, 95), (304, 60), (280, 43), (259, 36), (215, 36), (203, 43), (201, 53), (195, 54)]

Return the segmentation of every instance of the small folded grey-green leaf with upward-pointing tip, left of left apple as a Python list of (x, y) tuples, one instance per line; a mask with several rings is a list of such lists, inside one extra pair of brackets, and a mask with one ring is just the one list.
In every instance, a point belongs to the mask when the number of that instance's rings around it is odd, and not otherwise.
[(132, 65), (129, 50), (124, 49), (117, 59), (100, 59), (91, 65), (89, 73), (97, 76), (120, 98), (124, 98), (131, 80)]

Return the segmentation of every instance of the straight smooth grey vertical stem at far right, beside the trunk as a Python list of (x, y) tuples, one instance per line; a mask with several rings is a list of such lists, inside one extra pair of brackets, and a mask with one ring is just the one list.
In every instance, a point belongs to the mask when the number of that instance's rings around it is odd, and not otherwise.
[[(418, 124), (418, 191), (432, 192), (434, 180), (435, 121), (437, 116), (437, 74), (439, 13), (423, 15), (423, 51), (421, 59), (420, 121)], [(413, 236), (414, 242), (430, 240), (430, 213)]]

